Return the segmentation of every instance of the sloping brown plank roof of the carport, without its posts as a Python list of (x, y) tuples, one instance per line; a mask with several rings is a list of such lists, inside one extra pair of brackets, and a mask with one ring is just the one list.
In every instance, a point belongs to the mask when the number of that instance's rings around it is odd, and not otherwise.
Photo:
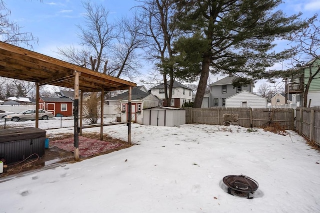
[(83, 92), (113, 91), (136, 86), (135, 83), (95, 72), (56, 58), (0, 42), (0, 76), (74, 88), (75, 72), (79, 72), (79, 90)]

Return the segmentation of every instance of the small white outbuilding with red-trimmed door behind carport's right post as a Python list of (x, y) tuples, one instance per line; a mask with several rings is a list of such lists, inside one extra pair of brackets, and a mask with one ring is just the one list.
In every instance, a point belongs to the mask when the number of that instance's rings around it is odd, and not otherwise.
[[(143, 124), (143, 109), (157, 107), (161, 100), (152, 94), (141, 90), (142, 87), (134, 87), (131, 91), (131, 121)], [(143, 88), (142, 88), (143, 89)], [(109, 105), (117, 105), (121, 110), (121, 122), (128, 120), (128, 91), (123, 92), (107, 100)]]

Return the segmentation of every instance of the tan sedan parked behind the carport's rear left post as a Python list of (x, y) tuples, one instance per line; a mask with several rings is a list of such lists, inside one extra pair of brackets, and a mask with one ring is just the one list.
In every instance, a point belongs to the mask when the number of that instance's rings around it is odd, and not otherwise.
[[(52, 118), (53, 116), (54, 115), (52, 112), (39, 109), (39, 119), (47, 120), (48, 118)], [(35, 109), (27, 109), (19, 113), (10, 114), (5, 116), (4, 119), (9, 121), (35, 120)]]

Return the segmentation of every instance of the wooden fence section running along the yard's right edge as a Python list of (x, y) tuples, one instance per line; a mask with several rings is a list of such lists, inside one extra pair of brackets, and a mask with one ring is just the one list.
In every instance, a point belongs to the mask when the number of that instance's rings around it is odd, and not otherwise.
[(320, 107), (298, 107), (295, 131), (320, 146)]

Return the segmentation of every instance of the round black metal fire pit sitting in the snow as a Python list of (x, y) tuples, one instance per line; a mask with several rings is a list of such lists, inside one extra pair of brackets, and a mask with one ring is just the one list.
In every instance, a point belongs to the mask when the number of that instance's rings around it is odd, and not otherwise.
[(228, 194), (247, 199), (252, 199), (259, 187), (256, 181), (242, 174), (225, 176), (222, 181), (228, 187)]

